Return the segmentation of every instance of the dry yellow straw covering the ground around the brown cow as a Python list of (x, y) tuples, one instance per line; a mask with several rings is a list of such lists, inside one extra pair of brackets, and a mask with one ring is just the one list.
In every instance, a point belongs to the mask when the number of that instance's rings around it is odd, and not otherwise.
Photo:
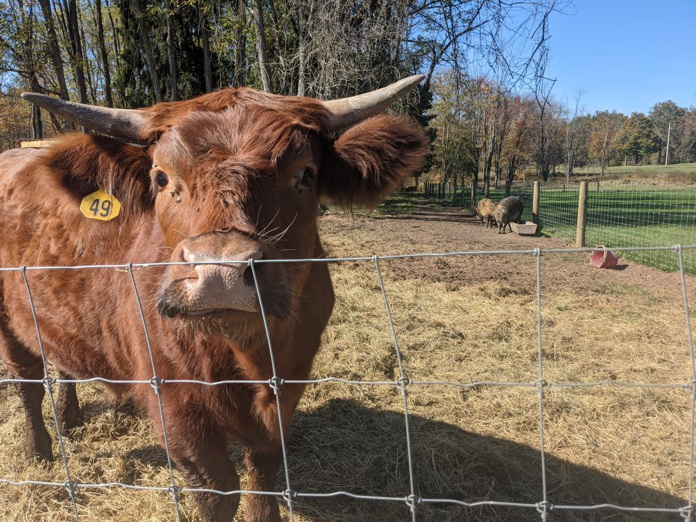
[[(413, 212), (400, 219), (329, 216), (329, 254), (559, 246), (550, 239), (484, 232), (461, 214)], [(383, 262), (406, 373), (414, 380), (537, 379), (536, 290), (529, 255)], [(331, 267), (337, 302), (313, 378), (385, 381), (399, 370), (374, 265)], [(542, 344), (545, 379), (683, 383), (690, 380), (676, 274), (642, 267), (599, 271), (584, 258), (544, 256)], [(696, 283), (689, 280), (696, 302)], [(97, 386), (79, 386), (84, 425), (67, 444), (78, 482), (166, 487), (166, 457), (148, 420), (109, 407)], [(45, 405), (47, 406), (47, 405)], [(0, 477), (65, 480), (61, 464), (26, 462), (24, 418), (0, 390)], [(414, 474), (419, 496), (541, 500), (538, 399), (533, 388), (411, 386)], [(46, 417), (49, 409), (46, 407)], [(545, 429), (554, 503), (681, 507), (688, 496), (690, 397), (682, 390), (548, 388)], [(49, 430), (50, 430), (49, 426)], [(57, 452), (57, 448), (54, 448)], [(230, 448), (237, 454), (237, 448)], [(402, 397), (391, 387), (310, 385), (288, 448), (296, 491), (406, 496), (409, 473)], [(241, 461), (241, 459), (240, 459)], [(282, 474), (281, 474), (282, 475)], [(175, 475), (181, 480), (180, 475)], [(244, 487), (244, 477), (242, 477)], [(284, 489), (278, 477), (278, 490)], [(244, 500), (242, 500), (242, 507)], [(167, 493), (81, 490), (84, 520), (171, 520)], [(196, 509), (184, 496), (184, 514)], [(299, 521), (406, 520), (400, 503), (301, 499)], [(538, 520), (533, 510), (419, 506), (420, 520)], [(287, 513), (284, 514), (287, 516)], [(663, 520), (665, 515), (562, 512), (554, 520)], [(0, 485), (0, 519), (72, 520), (65, 491)], [(243, 519), (243, 512), (237, 514)], [(679, 519), (675, 516), (674, 519)]]

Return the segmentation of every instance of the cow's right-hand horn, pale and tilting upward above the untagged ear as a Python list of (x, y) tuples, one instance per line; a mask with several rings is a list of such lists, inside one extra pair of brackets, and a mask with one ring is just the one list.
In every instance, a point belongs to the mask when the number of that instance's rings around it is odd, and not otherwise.
[(381, 113), (390, 104), (420, 84), (424, 78), (425, 76), (422, 74), (416, 74), (390, 86), (372, 90), (370, 93), (323, 102), (326, 109), (331, 111), (331, 129), (345, 129), (370, 118), (370, 116)]

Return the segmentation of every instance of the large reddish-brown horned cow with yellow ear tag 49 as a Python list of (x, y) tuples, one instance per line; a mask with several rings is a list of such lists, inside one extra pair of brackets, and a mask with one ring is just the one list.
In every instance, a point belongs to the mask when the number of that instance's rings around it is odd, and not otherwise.
[[(35, 104), (111, 137), (70, 134), (45, 150), (0, 155), (0, 266), (190, 262), (134, 269), (152, 340), (171, 455), (187, 487), (239, 489), (228, 441), (245, 450), (247, 489), (274, 491), (283, 454), (269, 383), (202, 386), (171, 379), (269, 381), (269, 347), (251, 259), (324, 254), (317, 205), (374, 205), (422, 165), (427, 139), (404, 118), (376, 116), (418, 84), (321, 102), (248, 88), (129, 111), (41, 95)], [(370, 119), (367, 119), (370, 118)], [(335, 138), (335, 132), (347, 129)], [(121, 203), (110, 221), (81, 200), (104, 189)], [(205, 264), (213, 261), (237, 264)], [(198, 263), (198, 264), (196, 264)], [(333, 308), (325, 263), (257, 263), (277, 374), (307, 379)], [(129, 271), (27, 271), (47, 357), (77, 379), (148, 381), (152, 367)], [(22, 274), (0, 273), (0, 355), (11, 374), (42, 378)], [(132, 395), (162, 443), (149, 384)], [(284, 430), (304, 386), (280, 386)], [(29, 457), (52, 459), (41, 416), (45, 390), (17, 385)], [(63, 429), (77, 424), (74, 385), (59, 391)], [(196, 493), (205, 520), (231, 520), (238, 495)], [(279, 520), (273, 496), (252, 494), (246, 520)]]

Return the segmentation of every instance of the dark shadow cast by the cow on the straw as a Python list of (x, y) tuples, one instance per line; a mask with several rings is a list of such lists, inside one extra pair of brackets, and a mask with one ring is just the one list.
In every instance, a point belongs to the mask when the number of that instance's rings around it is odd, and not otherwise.
[[(396, 390), (395, 390), (396, 391)], [(416, 495), (474, 502), (541, 500), (541, 454), (523, 445), (483, 436), (458, 426), (409, 416)], [(232, 447), (240, 471), (239, 448)], [(354, 400), (331, 399), (313, 411), (297, 411), (288, 443), (290, 482), (294, 491), (403, 497), (410, 493), (404, 414), (366, 407)], [(148, 445), (129, 452), (149, 466), (166, 467), (166, 454)], [(686, 463), (684, 466), (686, 475)], [(624, 506), (679, 508), (683, 498), (617, 479), (546, 454), (548, 500), (564, 505), (614, 503)], [(137, 481), (138, 477), (129, 476)], [(278, 473), (276, 491), (285, 489)], [(283, 501), (280, 500), (280, 503)], [(296, 514), (312, 521), (407, 521), (405, 503), (387, 500), (298, 498)], [(615, 509), (552, 511), (551, 521), (680, 520), (677, 514), (626, 513)], [(466, 508), (452, 504), (418, 505), (419, 521), (538, 521), (524, 507)]]

